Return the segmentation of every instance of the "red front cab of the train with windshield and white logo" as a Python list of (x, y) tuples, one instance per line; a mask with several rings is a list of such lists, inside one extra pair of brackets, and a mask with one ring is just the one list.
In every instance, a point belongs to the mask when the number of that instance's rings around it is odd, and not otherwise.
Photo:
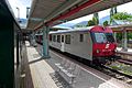
[(92, 57), (95, 62), (106, 63), (113, 59), (117, 43), (110, 28), (95, 26), (90, 30), (92, 38)]

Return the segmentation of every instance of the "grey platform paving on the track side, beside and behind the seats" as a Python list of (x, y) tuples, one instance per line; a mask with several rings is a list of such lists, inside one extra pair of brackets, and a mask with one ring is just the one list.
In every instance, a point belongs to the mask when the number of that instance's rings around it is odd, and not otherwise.
[[(41, 50), (42, 46), (38, 45), (37, 50)], [(53, 69), (57, 70), (55, 64), (61, 63), (64, 57), (55, 54), (50, 51), (51, 59), (46, 59), (46, 62), (53, 67)], [(95, 72), (92, 68), (84, 69), (82, 67), (77, 65), (77, 77), (76, 82), (73, 84), (73, 88), (132, 88), (132, 86), (127, 85), (123, 81), (120, 81), (116, 78), (112, 78), (106, 74), (100, 72)]]

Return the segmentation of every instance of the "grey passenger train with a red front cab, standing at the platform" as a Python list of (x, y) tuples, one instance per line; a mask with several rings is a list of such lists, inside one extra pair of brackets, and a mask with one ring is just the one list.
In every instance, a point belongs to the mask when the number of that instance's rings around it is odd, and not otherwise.
[[(95, 25), (70, 30), (51, 31), (50, 46), (94, 64), (106, 64), (116, 59), (117, 43), (113, 32), (108, 26)], [(42, 43), (42, 35), (36, 35)]]

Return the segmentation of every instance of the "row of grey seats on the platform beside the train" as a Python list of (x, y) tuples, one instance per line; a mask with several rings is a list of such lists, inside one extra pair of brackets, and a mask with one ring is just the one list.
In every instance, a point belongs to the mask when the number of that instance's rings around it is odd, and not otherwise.
[(63, 63), (55, 64), (57, 73), (69, 84), (73, 85), (76, 78), (76, 65), (64, 61)]

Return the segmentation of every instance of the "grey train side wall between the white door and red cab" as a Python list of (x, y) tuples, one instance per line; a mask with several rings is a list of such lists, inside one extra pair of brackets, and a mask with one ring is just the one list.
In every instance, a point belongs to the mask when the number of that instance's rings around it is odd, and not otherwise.
[(67, 44), (65, 41), (65, 52), (92, 61), (92, 41), (89, 32), (74, 32), (66, 33), (70, 35), (70, 44)]

